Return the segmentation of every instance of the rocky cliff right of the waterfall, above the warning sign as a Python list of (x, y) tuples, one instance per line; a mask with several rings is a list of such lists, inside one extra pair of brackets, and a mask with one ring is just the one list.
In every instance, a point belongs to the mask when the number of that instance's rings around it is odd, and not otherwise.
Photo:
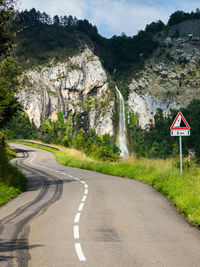
[(200, 98), (200, 37), (167, 37), (129, 84), (128, 110), (148, 127), (157, 108), (186, 107)]

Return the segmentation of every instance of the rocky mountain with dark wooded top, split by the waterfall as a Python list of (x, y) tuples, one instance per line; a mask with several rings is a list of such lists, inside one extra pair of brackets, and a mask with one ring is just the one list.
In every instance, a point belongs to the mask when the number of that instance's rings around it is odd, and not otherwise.
[(167, 25), (106, 39), (87, 20), (23, 11), (13, 25), (23, 68), (19, 100), (37, 127), (62, 111), (65, 119), (79, 114), (85, 131), (116, 136), (117, 85), (128, 124), (135, 116), (137, 127), (149, 129), (158, 109), (167, 116), (200, 97), (199, 26), (198, 10), (177, 11)]

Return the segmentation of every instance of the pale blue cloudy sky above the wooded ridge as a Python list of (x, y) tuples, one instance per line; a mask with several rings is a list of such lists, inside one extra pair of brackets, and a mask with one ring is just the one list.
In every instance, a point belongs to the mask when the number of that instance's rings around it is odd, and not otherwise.
[(87, 19), (107, 38), (125, 33), (133, 36), (147, 24), (162, 20), (177, 11), (200, 9), (200, 0), (19, 0), (19, 9), (36, 8), (54, 16), (72, 15)]

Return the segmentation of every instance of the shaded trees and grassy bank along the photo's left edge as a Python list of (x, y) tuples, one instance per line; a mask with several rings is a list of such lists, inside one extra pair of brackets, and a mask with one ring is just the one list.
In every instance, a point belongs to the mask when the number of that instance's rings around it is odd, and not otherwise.
[(15, 153), (8, 149), (2, 128), (22, 109), (16, 98), (21, 68), (10, 57), (13, 47), (12, 20), (15, 17), (14, 1), (0, 1), (0, 206), (26, 189), (26, 178), (9, 163)]

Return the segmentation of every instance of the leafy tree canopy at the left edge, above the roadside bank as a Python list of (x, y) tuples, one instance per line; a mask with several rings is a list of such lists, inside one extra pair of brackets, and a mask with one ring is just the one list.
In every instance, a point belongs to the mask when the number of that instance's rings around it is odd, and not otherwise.
[(21, 69), (16, 61), (8, 56), (13, 44), (11, 24), (14, 16), (14, 2), (0, 0), (0, 128), (21, 109), (16, 98)]

